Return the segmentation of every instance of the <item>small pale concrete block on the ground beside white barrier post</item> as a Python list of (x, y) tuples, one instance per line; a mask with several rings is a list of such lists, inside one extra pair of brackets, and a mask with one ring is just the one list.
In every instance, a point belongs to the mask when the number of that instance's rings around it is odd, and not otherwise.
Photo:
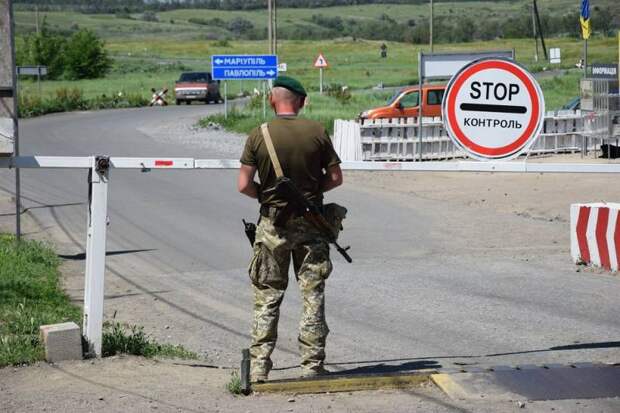
[(48, 362), (82, 359), (82, 334), (74, 322), (41, 326), (39, 331)]

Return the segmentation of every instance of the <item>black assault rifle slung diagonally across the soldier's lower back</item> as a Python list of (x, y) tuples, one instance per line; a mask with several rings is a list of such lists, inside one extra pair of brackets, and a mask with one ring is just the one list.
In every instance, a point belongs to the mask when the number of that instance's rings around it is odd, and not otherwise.
[[(349, 256), (347, 251), (351, 249), (351, 247), (341, 247), (338, 245), (338, 240), (336, 238), (336, 233), (334, 232), (334, 228), (332, 225), (327, 222), (319, 207), (317, 207), (314, 203), (310, 202), (308, 198), (295, 186), (293, 181), (286, 177), (278, 178), (276, 181), (276, 185), (268, 190), (269, 192), (274, 191), (275, 193), (281, 195), (283, 198), (287, 199), (289, 205), (285, 207), (284, 211), (282, 211), (283, 216), (287, 215), (287, 212), (291, 212), (292, 208), (295, 210), (302, 210), (304, 218), (327, 240), (330, 244), (333, 244), (336, 248), (336, 251), (340, 253), (344, 257), (347, 262), (353, 262), (353, 259)], [(287, 211), (288, 210), (288, 211)], [(288, 217), (286, 217), (288, 218)], [(276, 222), (278, 220), (276, 219)]]

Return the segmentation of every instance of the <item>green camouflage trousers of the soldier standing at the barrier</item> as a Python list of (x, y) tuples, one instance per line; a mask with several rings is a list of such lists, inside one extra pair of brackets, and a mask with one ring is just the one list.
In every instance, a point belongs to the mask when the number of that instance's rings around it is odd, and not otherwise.
[(291, 257), (303, 300), (298, 337), (302, 368), (323, 365), (329, 333), (325, 321), (325, 280), (332, 271), (329, 244), (303, 217), (290, 219), (284, 228), (276, 228), (273, 222), (261, 217), (249, 268), (254, 290), (252, 374), (271, 370)]

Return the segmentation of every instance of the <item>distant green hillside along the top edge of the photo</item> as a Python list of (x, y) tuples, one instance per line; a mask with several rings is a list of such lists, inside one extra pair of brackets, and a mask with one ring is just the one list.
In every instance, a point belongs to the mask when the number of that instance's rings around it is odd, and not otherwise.
[[(143, 0), (18, 0), (21, 8), (16, 13), (19, 34), (36, 30), (35, 13), (31, 11), (34, 1), (48, 29), (62, 36), (88, 28), (103, 39), (166, 36), (263, 40), (267, 37), (265, 0), (153, 0), (149, 3)], [(435, 1), (433, 38), (437, 43), (532, 37), (531, 0)], [(595, 34), (614, 35), (620, 27), (618, 1), (591, 2)], [(401, 4), (405, 2), (407, 4)], [(318, 7), (334, 3), (346, 5)], [(388, 0), (278, 0), (278, 38), (428, 43), (428, 0), (391, 0), (389, 3)], [(312, 7), (302, 8), (303, 4)], [(258, 5), (260, 8), (252, 9)], [(219, 9), (207, 8), (215, 6)], [(578, 0), (541, 0), (538, 8), (545, 36), (577, 38), (580, 35)]]

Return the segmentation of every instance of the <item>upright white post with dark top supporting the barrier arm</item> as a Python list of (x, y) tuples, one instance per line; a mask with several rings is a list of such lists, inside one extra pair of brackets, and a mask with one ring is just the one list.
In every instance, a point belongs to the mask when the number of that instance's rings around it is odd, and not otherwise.
[(103, 328), (109, 168), (109, 158), (93, 157), (88, 173), (83, 334), (88, 343), (87, 353), (97, 357), (101, 356)]

